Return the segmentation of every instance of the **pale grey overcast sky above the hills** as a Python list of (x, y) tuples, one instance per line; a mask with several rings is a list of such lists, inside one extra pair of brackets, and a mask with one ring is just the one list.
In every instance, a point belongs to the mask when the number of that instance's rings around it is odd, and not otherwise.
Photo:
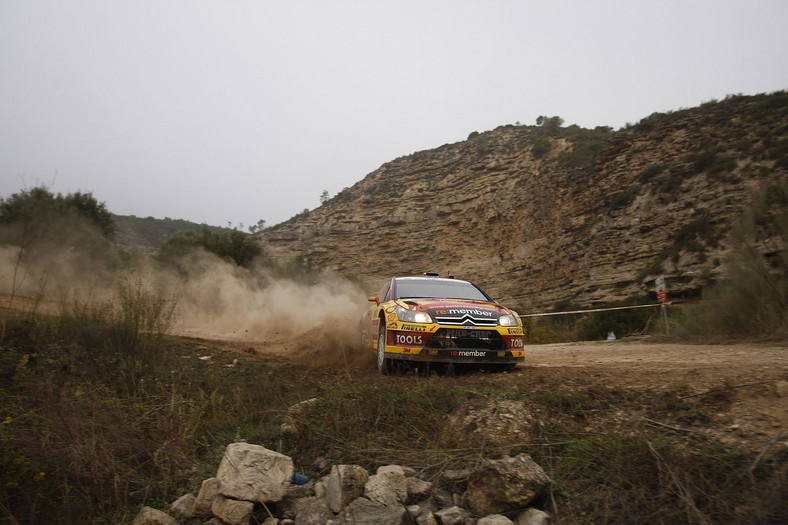
[(785, 0), (0, 0), (0, 196), (246, 230), (472, 131), (783, 89)]

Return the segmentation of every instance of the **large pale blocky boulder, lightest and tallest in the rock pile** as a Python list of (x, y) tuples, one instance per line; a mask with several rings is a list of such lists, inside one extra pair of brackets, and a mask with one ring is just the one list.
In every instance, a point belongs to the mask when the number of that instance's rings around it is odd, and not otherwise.
[(260, 445), (227, 445), (216, 477), (219, 493), (260, 503), (281, 501), (293, 476), (293, 460)]

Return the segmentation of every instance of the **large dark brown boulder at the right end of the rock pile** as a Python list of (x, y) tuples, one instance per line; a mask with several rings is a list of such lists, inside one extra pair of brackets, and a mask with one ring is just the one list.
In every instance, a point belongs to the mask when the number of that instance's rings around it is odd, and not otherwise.
[(550, 478), (528, 454), (484, 461), (468, 478), (468, 507), (487, 515), (527, 507), (550, 484)]

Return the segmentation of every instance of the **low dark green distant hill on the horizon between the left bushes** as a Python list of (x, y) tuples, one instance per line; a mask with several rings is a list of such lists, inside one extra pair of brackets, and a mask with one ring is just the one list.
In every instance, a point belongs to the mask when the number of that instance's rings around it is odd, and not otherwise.
[(112, 218), (118, 227), (115, 244), (126, 250), (139, 250), (144, 253), (156, 252), (159, 246), (175, 232), (200, 232), (204, 227), (219, 232), (230, 231), (229, 228), (197, 224), (183, 219), (154, 219), (115, 214)]

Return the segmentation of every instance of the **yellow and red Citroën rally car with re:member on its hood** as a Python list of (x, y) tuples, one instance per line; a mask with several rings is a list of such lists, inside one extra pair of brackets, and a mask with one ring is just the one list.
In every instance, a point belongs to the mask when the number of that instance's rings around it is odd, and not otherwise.
[(394, 277), (369, 300), (375, 304), (361, 320), (361, 340), (377, 352), (381, 374), (417, 363), (509, 370), (525, 360), (517, 312), (470, 281)]

